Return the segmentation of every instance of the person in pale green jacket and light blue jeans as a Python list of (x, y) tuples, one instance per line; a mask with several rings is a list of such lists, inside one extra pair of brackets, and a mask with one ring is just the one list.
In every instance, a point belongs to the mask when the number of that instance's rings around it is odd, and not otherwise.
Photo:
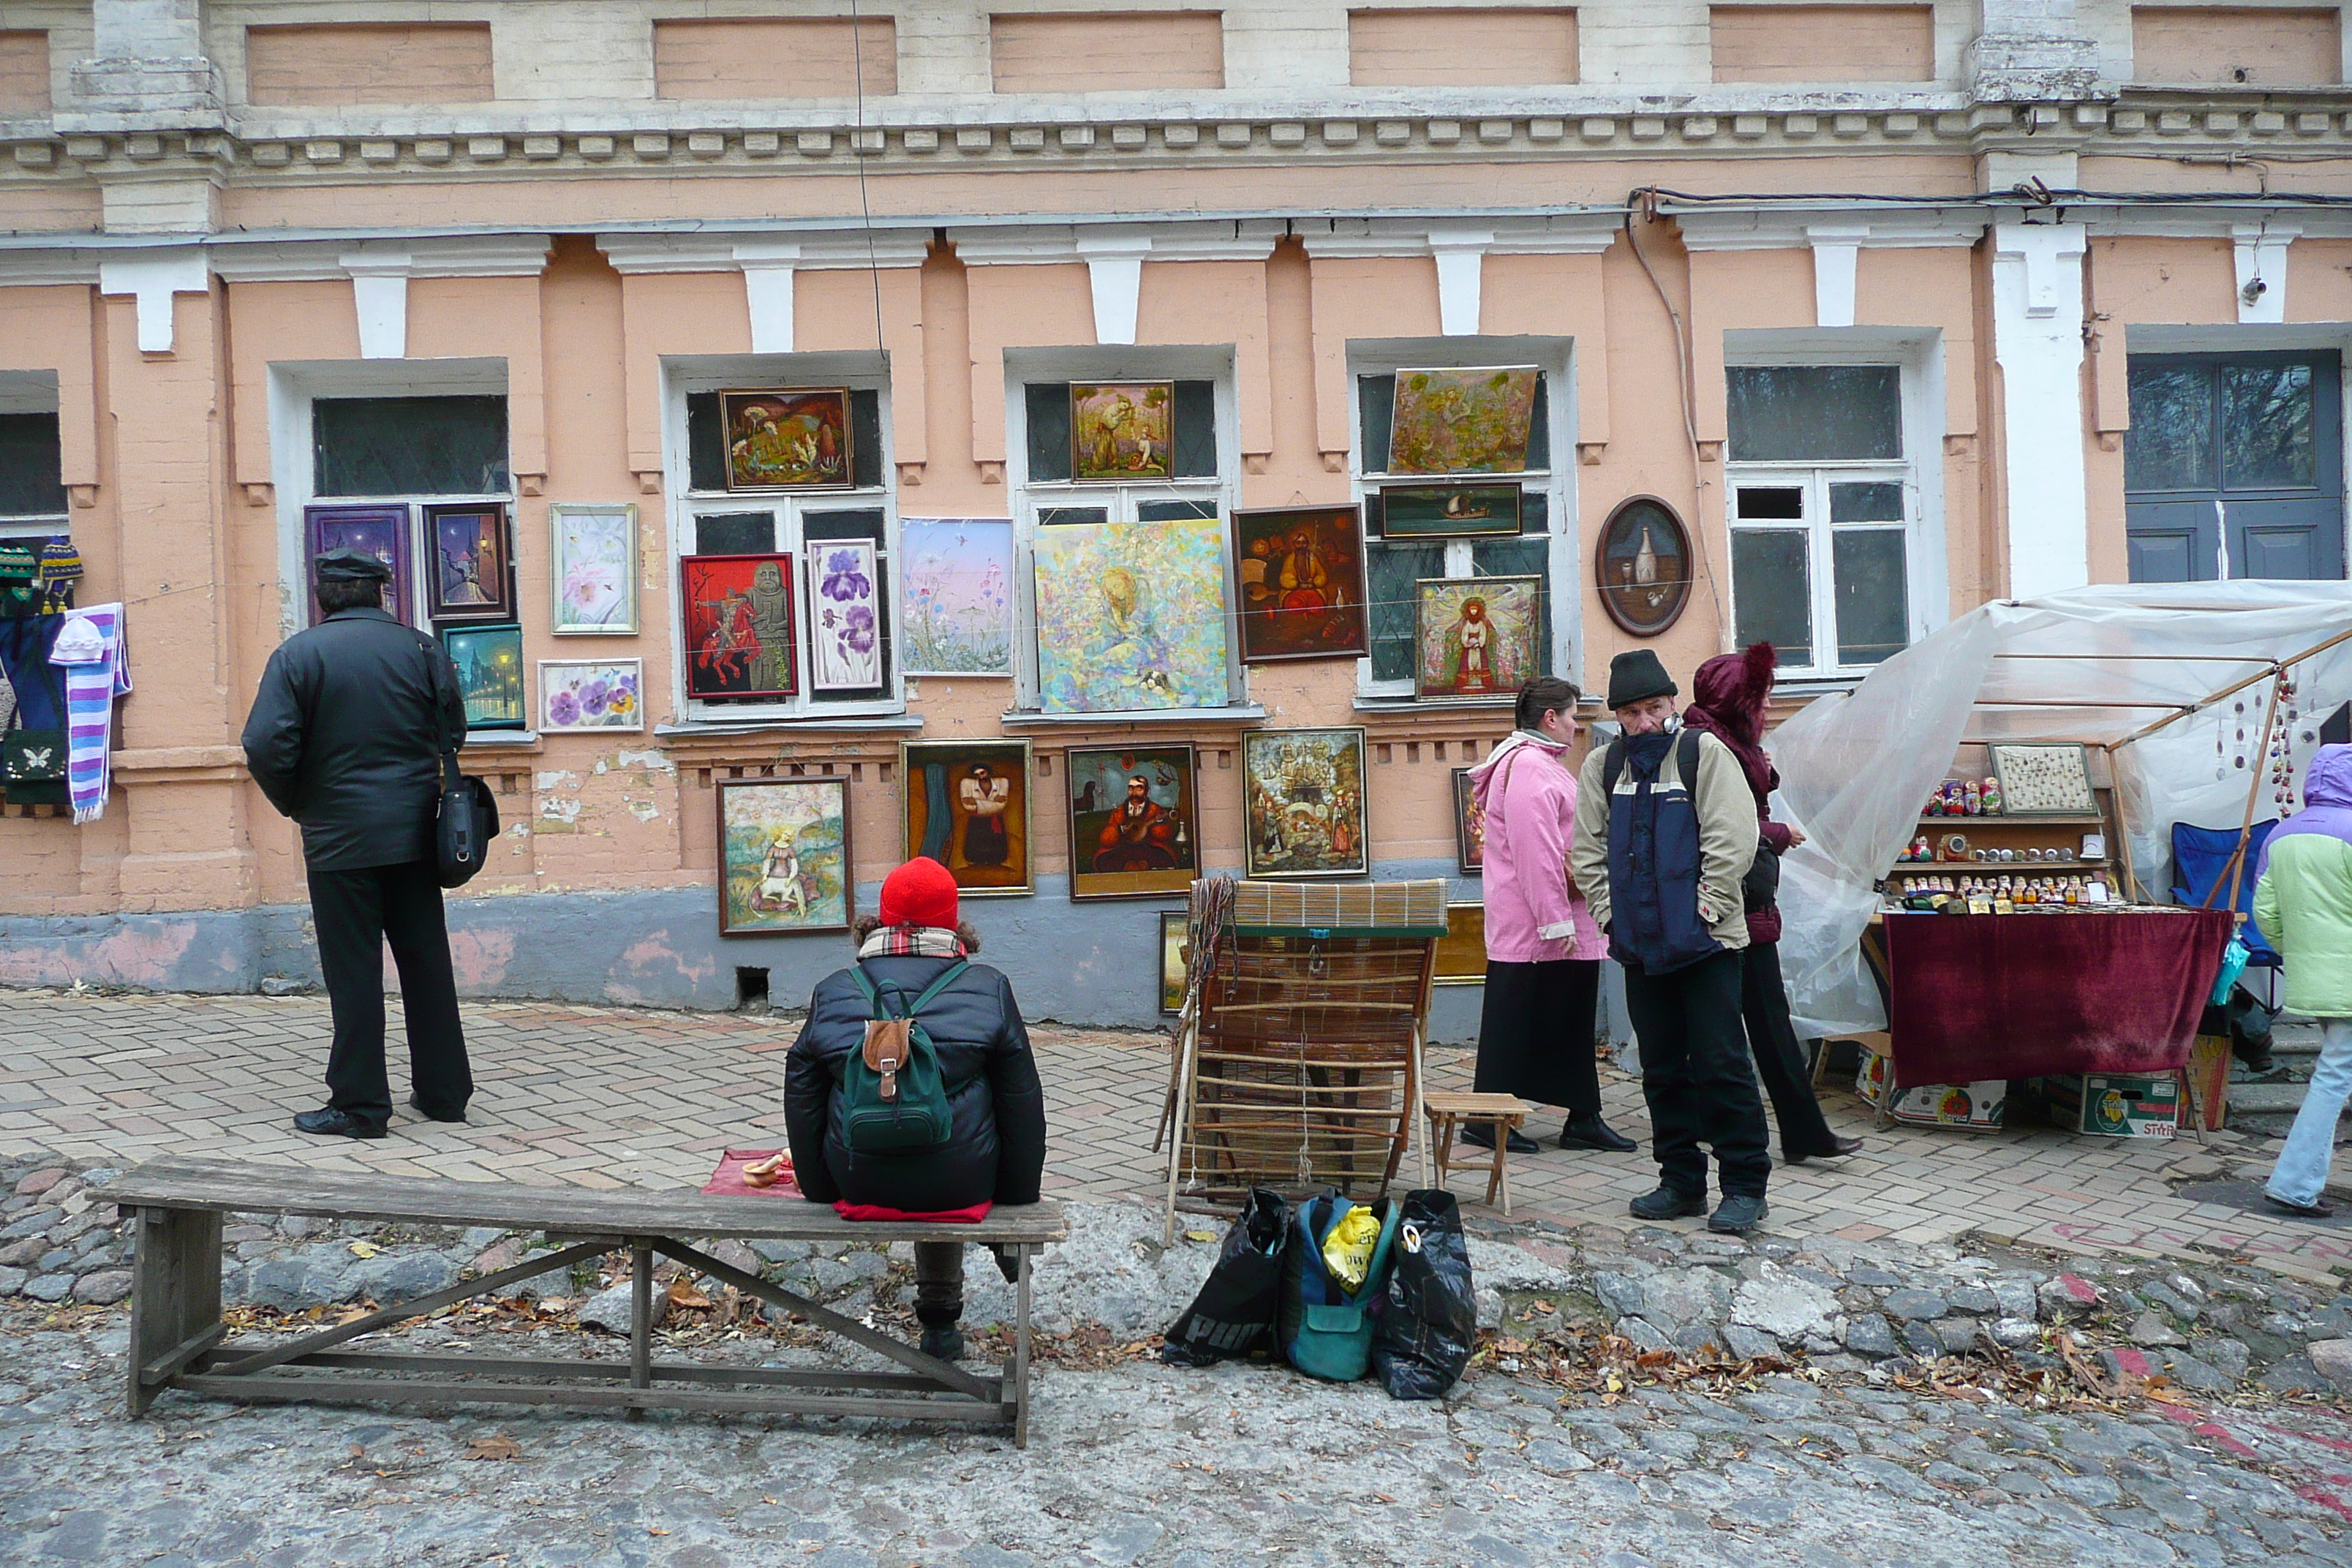
[(2319, 1065), (2279, 1164), (2272, 1208), (2324, 1220), (2336, 1119), (2352, 1098), (2352, 745), (2321, 745), (2303, 776), (2303, 811), (2263, 846), (2253, 924), (2286, 959), (2286, 1006), (2319, 1020)]

